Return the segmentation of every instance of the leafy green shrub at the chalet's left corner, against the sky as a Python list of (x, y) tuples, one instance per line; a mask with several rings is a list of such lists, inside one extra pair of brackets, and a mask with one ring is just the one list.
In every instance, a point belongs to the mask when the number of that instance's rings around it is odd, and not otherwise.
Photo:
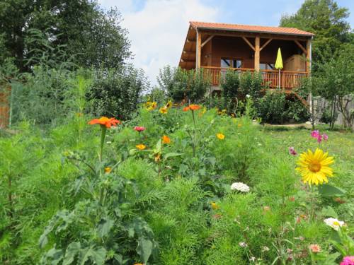
[(200, 102), (210, 89), (210, 80), (203, 69), (188, 71), (180, 67), (164, 66), (159, 71), (157, 82), (160, 88), (166, 91), (167, 96), (177, 102)]

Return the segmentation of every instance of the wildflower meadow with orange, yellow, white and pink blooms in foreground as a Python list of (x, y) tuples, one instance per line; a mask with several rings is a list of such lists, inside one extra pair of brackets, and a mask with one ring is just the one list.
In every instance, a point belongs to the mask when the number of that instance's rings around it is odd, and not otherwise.
[(353, 133), (148, 101), (0, 145), (4, 264), (353, 264)]

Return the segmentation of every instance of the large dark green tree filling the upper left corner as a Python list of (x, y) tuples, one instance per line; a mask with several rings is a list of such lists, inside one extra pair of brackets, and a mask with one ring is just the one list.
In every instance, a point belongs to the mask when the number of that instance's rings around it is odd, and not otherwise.
[(15, 58), (21, 71), (30, 69), (28, 60), (40, 49), (32, 40), (34, 29), (45, 33), (52, 47), (63, 47), (66, 54), (74, 55), (79, 66), (115, 67), (130, 57), (120, 13), (104, 12), (96, 1), (1, 1), (1, 57)]

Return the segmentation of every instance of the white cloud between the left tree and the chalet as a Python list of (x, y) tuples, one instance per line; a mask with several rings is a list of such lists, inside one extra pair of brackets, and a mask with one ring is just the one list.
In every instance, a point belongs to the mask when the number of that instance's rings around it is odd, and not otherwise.
[(124, 1), (124, 6), (120, 5), (123, 1), (103, 2), (122, 10), (122, 26), (129, 30), (132, 42), (132, 62), (145, 71), (152, 85), (161, 67), (178, 65), (189, 21), (215, 21), (219, 13), (200, 0), (147, 0), (139, 11), (132, 8), (132, 0)]

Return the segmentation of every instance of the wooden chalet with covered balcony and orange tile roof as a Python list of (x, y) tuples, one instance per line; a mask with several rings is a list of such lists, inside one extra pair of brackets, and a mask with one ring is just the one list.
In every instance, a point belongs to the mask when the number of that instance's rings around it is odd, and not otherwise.
[(292, 93), (311, 70), (313, 36), (296, 28), (191, 21), (179, 66), (205, 69), (214, 90), (219, 90), (220, 78), (227, 69), (260, 71), (264, 84), (278, 88), (279, 71), (274, 64), (280, 47), (284, 66), (280, 87)]

